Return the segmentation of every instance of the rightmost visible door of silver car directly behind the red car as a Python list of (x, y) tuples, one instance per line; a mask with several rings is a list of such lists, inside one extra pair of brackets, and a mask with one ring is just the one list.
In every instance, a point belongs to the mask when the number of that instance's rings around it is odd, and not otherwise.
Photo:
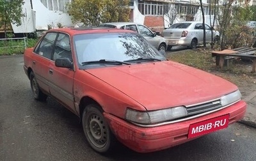
[(154, 36), (154, 33), (150, 29), (143, 25), (138, 25), (138, 31), (141, 36), (148, 40), (148, 42), (150, 42), (154, 47), (158, 48), (159, 40), (156, 36)]

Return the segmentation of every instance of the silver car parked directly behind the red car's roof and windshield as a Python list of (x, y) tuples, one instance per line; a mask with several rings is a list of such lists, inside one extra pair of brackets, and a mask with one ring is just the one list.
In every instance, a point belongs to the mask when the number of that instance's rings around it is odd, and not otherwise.
[(148, 40), (156, 49), (166, 50), (167, 43), (162, 36), (158, 36), (155, 32), (148, 29), (147, 26), (143, 24), (138, 24), (134, 22), (109, 22), (106, 24), (100, 24), (99, 27), (111, 27), (116, 29), (129, 29), (140, 33), (144, 38)]

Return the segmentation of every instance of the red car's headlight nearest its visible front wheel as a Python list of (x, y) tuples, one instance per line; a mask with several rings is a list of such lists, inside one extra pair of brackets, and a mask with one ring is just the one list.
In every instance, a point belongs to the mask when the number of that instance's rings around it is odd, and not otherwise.
[(127, 109), (125, 118), (135, 123), (154, 124), (182, 118), (187, 115), (186, 108), (181, 106), (158, 111), (135, 111), (133, 109)]

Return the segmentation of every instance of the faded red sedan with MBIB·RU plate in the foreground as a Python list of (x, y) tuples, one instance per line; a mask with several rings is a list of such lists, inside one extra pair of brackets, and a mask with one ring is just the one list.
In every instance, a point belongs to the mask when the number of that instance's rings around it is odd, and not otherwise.
[(99, 153), (116, 139), (134, 151), (159, 151), (228, 127), (246, 103), (234, 84), (168, 61), (140, 34), (65, 28), (24, 53), (36, 100), (47, 96), (74, 112)]

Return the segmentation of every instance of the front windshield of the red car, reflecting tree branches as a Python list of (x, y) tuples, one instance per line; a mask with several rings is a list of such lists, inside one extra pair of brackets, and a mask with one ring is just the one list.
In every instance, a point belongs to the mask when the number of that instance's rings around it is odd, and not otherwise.
[(78, 34), (74, 36), (74, 46), (80, 68), (127, 65), (120, 63), (125, 61), (141, 63), (166, 60), (137, 33)]

